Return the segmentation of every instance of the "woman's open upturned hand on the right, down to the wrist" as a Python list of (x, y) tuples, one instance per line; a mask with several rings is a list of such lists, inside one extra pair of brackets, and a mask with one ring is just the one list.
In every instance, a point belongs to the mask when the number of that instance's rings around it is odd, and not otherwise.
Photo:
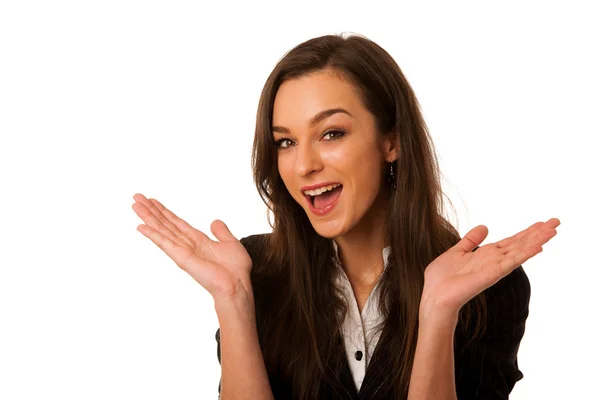
[(488, 235), (485, 225), (471, 229), (455, 246), (425, 269), (421, 312), (458, 316), (460, 308), (519, 265), (542, 252), (556, 235), (557, 218), (536, 222), (496, 243), (479, 246)]

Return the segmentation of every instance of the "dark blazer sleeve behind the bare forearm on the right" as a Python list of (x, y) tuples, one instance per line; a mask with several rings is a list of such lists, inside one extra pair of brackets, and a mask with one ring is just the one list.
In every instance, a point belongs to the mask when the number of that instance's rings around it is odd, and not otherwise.
[(455, 347), (458, 400), (506, 400), (523, 378), (517, 363), (529, 315), (531, 287), (522, 266), (485, 291), (486, 327), (480, 338)]

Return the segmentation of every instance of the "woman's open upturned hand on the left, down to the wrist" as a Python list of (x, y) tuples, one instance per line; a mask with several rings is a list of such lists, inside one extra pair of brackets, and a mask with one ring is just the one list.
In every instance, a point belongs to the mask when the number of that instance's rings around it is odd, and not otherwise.
[(135, 194), (132, 208), (144, 221), (137, 230), (217, 299), (252, 298), (250, 255), (220, 220), (210, 225), (218, 241), (193, 228), (158, 200)]

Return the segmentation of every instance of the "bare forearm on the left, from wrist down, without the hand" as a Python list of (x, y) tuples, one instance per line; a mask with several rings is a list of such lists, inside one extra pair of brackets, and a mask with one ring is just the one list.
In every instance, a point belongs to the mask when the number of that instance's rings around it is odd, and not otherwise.
[(215, 300), (221, 399), (274, 399), (262, 357), (252, 296)]

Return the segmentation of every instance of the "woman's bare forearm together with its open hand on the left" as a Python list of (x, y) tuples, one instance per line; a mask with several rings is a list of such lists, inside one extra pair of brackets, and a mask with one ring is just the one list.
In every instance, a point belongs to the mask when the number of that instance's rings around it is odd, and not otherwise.
[(215, 301), (225, 349), (223, 398), (273, 399), (256, 328), (250, 279), (253, 261), (244, 243), (221, 220), (210, 225), (215, 241), (158, 200), (139, 193), (134, 199), (132, 208), (145, 223), (138, 226), (138, 231), (202, 285)]

